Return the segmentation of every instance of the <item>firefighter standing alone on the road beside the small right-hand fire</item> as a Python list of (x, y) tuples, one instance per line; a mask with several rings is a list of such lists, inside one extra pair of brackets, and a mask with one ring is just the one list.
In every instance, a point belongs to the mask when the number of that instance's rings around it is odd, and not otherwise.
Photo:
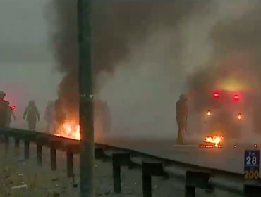
[(187, 96), (182, 94), (176, 103), (176, 120), (178, 123), (178, 144), (185, 144), (184, 134), (186, 132), (187, 118), (188, 118), (188, 106)]

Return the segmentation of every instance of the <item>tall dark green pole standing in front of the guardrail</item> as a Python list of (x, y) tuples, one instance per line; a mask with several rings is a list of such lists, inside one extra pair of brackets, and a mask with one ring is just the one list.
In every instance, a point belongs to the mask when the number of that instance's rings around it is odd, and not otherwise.
[(91, 1), (78, 0), (80, 197), (95, 197)]

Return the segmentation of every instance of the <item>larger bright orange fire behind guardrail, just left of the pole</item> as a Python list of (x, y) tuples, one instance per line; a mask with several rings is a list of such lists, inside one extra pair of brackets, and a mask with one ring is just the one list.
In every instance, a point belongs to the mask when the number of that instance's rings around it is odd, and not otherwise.
[(73, 120), (63, 122), (55, 135), (80, 140), (80, 125)]

